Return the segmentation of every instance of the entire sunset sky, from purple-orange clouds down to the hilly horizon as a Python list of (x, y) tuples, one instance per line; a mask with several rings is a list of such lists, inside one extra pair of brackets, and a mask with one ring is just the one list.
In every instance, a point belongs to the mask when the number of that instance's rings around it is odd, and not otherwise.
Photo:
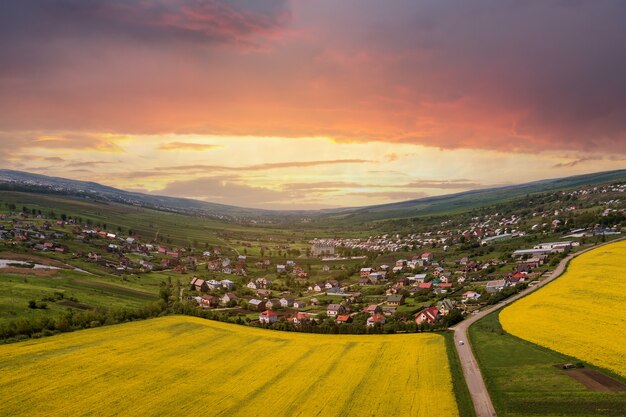
[(3, 0), (0, 166), (245, 207), (626, 167), (621, 0)]

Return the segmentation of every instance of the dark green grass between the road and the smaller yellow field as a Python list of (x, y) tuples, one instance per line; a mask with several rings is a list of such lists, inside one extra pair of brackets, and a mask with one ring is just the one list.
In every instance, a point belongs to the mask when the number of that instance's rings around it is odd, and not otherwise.
[(506, 333), (497, 313), (472, 325), (469, 337), (498, 416), (624, 415), (626, 392), (588, 391), (554, 366), (578, 359)]

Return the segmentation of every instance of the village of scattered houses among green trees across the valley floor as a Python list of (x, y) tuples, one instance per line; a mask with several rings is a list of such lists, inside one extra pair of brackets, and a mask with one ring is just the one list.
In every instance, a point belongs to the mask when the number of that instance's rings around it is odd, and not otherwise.
[[(588, 193), (603, 190), (568, 195)], [(66, 214), (9, 206), (0, 214), (0, 245), (88, 273), (104, 271), (119, 285), (143, 283), (155, 293), (173, 282), (178, 302), (253, 326), (418, 331), (447, 327), (533, 286), (581, 242), (619, 234), (615, 224), (602, 224), (609, 216), (623, 217), (619, 199), (601, 203), (600, 221), (591, 228), (567, 224), (564, 213), (577, 207), (565, 200), (556, 210), (485, 213), (405, 235), (313, 239), (297, 242), (300, 249), (293, 242), (262, 242), (261, 251), (251, 247), (249, 255), (236, 250), (238, 242), (182, 247)]]

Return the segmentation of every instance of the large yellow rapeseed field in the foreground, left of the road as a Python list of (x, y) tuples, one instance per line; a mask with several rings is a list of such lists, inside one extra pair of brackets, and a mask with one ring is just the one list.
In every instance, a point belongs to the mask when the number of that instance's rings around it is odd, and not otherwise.
[(164, 317), (0, 346), (0, 415), (458, 416), (436, 334)]

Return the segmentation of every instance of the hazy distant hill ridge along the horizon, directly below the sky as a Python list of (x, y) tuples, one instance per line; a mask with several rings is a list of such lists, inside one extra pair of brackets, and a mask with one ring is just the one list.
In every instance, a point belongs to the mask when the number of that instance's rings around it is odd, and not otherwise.
[(525, 184), (471, 190), (455, 194), (366, 207), (277, 211), (243, 208), (188, 198), (143, 194), (120, 190), (95, 182), (50, 177), (23, 171), (0, 170), (0, 190), (61, 194), (97, 201), (130, 204), (181, 214), (208, 216), (226, 221), (252, 222), (293, 222), (304, 218), (318, 221), (349, 220), (350, 222), (367, 222), (434, 215), (467, 210), (486, 204), (495, 204), (501, 201), (523, 197), (527, 194), (620, 181), (626, 181), (626, 169), (546, 179)]

